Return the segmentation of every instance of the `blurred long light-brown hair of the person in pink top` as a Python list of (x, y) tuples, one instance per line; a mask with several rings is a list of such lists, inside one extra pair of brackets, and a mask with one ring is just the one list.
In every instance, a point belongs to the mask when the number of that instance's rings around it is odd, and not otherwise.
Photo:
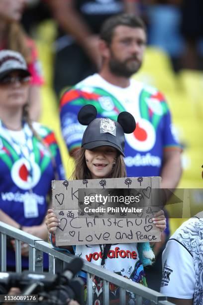
[(5, 48), (22, 54), (27, 64), (31, 62), (31, 47), (27, 43), (28, 36), (18, 22), (11, 22), (6, 29)]

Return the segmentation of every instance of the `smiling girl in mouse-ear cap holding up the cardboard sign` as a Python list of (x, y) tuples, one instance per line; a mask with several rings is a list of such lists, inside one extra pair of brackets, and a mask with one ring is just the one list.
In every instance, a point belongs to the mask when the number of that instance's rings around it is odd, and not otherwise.
[[(74, 178), (82, 180), (126, 177), (123, 160), (124, 133), (132, 133), (135, 130), (134, 118), (128, 112), (120, 113), (117, 122), (110, 119), (96, 119), (96, 116), (97, 110), (92, 105), (84, 106), (78, 114), (78, 121), (88, 127), (83, 135), (82, 148), (78, 151)], [(159, 211), (153, 221), (161, 230), (166, 228), (163, 211)], [(48, 210), (46, 224), (49, 233), (52, 234), (53, 242), (55, 231), (60, 223), (51, 209)], [(85, 260), (89, 260), (90, 257), (94, 258), (96, 257), (94, 254), (102, 252), (102, 258), (99, 255), (99, 259), (92, 259), (91, 262), (103, 265), (103, 268), (107, 270), (147, 286), (143, 265), (151, 265), (151, 260), (154, 258), (149, 243), (80, 245), (74, 248), (74, 252), (75, 255)], [(122, 255), (120, 255), (121, 253)], [(124, 253), (128, 253), (128, 255), (123, 255)], [(94, 304), (97, 304), (95, 303), (97, 300), (98, 304), (102, 304), (102, 280), (95, 277), (94, 284)], [(110, 284), (109, 291), (110, 300), (114, 302), (119, 300), (118, 287)]]

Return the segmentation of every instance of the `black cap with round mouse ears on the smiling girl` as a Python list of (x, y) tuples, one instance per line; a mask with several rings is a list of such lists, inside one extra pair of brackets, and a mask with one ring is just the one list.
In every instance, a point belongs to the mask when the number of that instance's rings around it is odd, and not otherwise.
[(136, 127), (135, 119), (129, 112), (121, 112), (117, 122), (108, 118), (96, 118), (97, 109), (93, 105), (82, 107), (78, 113), (78, 121), (86, 128), (82, 147), (92, 150), (100, 146), (111, 146), (123, 156), (125, 146), (125, 134), (131, 134)]

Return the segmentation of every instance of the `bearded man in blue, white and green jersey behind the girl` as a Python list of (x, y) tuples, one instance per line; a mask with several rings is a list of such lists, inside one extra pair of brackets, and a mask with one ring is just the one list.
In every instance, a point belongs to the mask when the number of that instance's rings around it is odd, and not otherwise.
[[(145, 26), (133, 14), (112, 16), (101, 30), (99, 43), (102, 68), (99, 74), (87, 77), (65, 92), (61, 99), (61, 128), (69, 153), (80, 148), (84, 127), (77, 115), (80, 108), (92, 104), (100, 117), (117, 120), (122, 111), (130, 112), (137, 127), (125, 135), (127, 176), (161, 176), (163, 188), (175, 188), (181, 177), (181, 148), (172, 133), (171, 115), (164, 96), (130, 76), (136, 73), (143, 59), (146, 44)], [(141, 179), (140, 179), (141, 181)], [(159, 252), (167, 238), (156, 244)], [(161, 255), (158, 270), (153, 273), (153, 289), (160, 289)], [(147, 272), (149, 274), (149, 272)], [(152, 288), (152, 287), (150, 287)]]

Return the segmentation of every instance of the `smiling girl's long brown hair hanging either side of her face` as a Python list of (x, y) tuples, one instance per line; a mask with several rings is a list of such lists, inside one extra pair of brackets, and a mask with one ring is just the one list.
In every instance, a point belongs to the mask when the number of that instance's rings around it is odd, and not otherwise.
[[(91, 172), (86, 164), (85, 149), (81, 148), (75, 152), (76, 166), (71, 176), (75, 180), (92, 179)], [(116, 158), (115, 166), (112, 168), (108, 177), (106, 178), (123, 178), (126, 177), (126, 167), (123, 160), (123, 156), (119, 154)]]

